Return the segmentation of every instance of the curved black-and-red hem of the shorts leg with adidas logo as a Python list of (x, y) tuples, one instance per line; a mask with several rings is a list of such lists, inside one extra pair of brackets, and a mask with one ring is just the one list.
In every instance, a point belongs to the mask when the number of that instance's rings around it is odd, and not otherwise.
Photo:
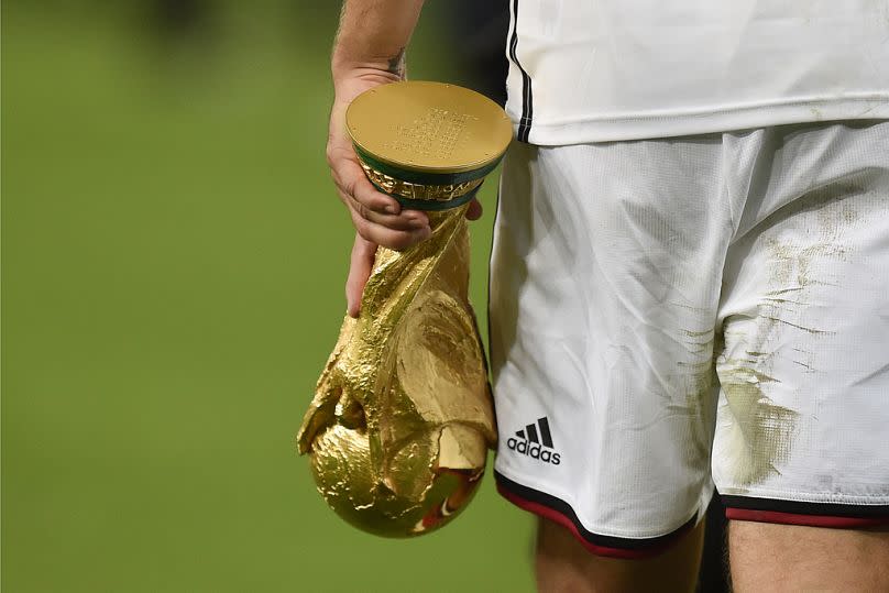
[(695, 513), (684, 525), (663, 536), (638, 539), (603, 536), (583, 527), (571, 505), (561, 498), (524, 486), (497, 471), (494, 471), (494, 479), (501, 496), (524, 510), (567, 528), (586, 550), (595, 556), (621, 559), (651, 558), (676, 543), (698, 523)]

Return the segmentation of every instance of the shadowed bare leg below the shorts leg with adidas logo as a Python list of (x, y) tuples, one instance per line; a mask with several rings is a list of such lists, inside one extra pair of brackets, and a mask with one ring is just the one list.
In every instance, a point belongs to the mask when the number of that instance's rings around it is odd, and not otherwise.
[(704, 521), (663, 552), (622, 560), (590, 553), (564, 527), (538, 519), (536, 572), (541, 593), (694, 591)]

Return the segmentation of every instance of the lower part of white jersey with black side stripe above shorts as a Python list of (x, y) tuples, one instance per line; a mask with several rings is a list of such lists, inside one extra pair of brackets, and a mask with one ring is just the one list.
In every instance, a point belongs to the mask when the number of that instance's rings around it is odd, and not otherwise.
[(507, 111), (558, 145), (889, 118), (889, 0), (511, 0)]

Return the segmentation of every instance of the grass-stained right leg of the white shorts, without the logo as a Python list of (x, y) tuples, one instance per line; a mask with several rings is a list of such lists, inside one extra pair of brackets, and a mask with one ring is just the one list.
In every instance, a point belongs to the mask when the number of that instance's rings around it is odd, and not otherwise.
[(713, 474), (734, 519), (889, 523), (889, 124), (776, 142), (729, 250)]

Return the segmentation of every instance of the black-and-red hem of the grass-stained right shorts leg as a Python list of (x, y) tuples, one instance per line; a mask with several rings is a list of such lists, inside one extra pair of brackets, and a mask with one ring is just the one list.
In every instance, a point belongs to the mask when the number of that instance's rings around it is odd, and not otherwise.
[(751, 496), (723, 496), (722, 499), (725, 517), (731, 520), (835, 529), (889, 526), (889, 505), (806, 503)]

